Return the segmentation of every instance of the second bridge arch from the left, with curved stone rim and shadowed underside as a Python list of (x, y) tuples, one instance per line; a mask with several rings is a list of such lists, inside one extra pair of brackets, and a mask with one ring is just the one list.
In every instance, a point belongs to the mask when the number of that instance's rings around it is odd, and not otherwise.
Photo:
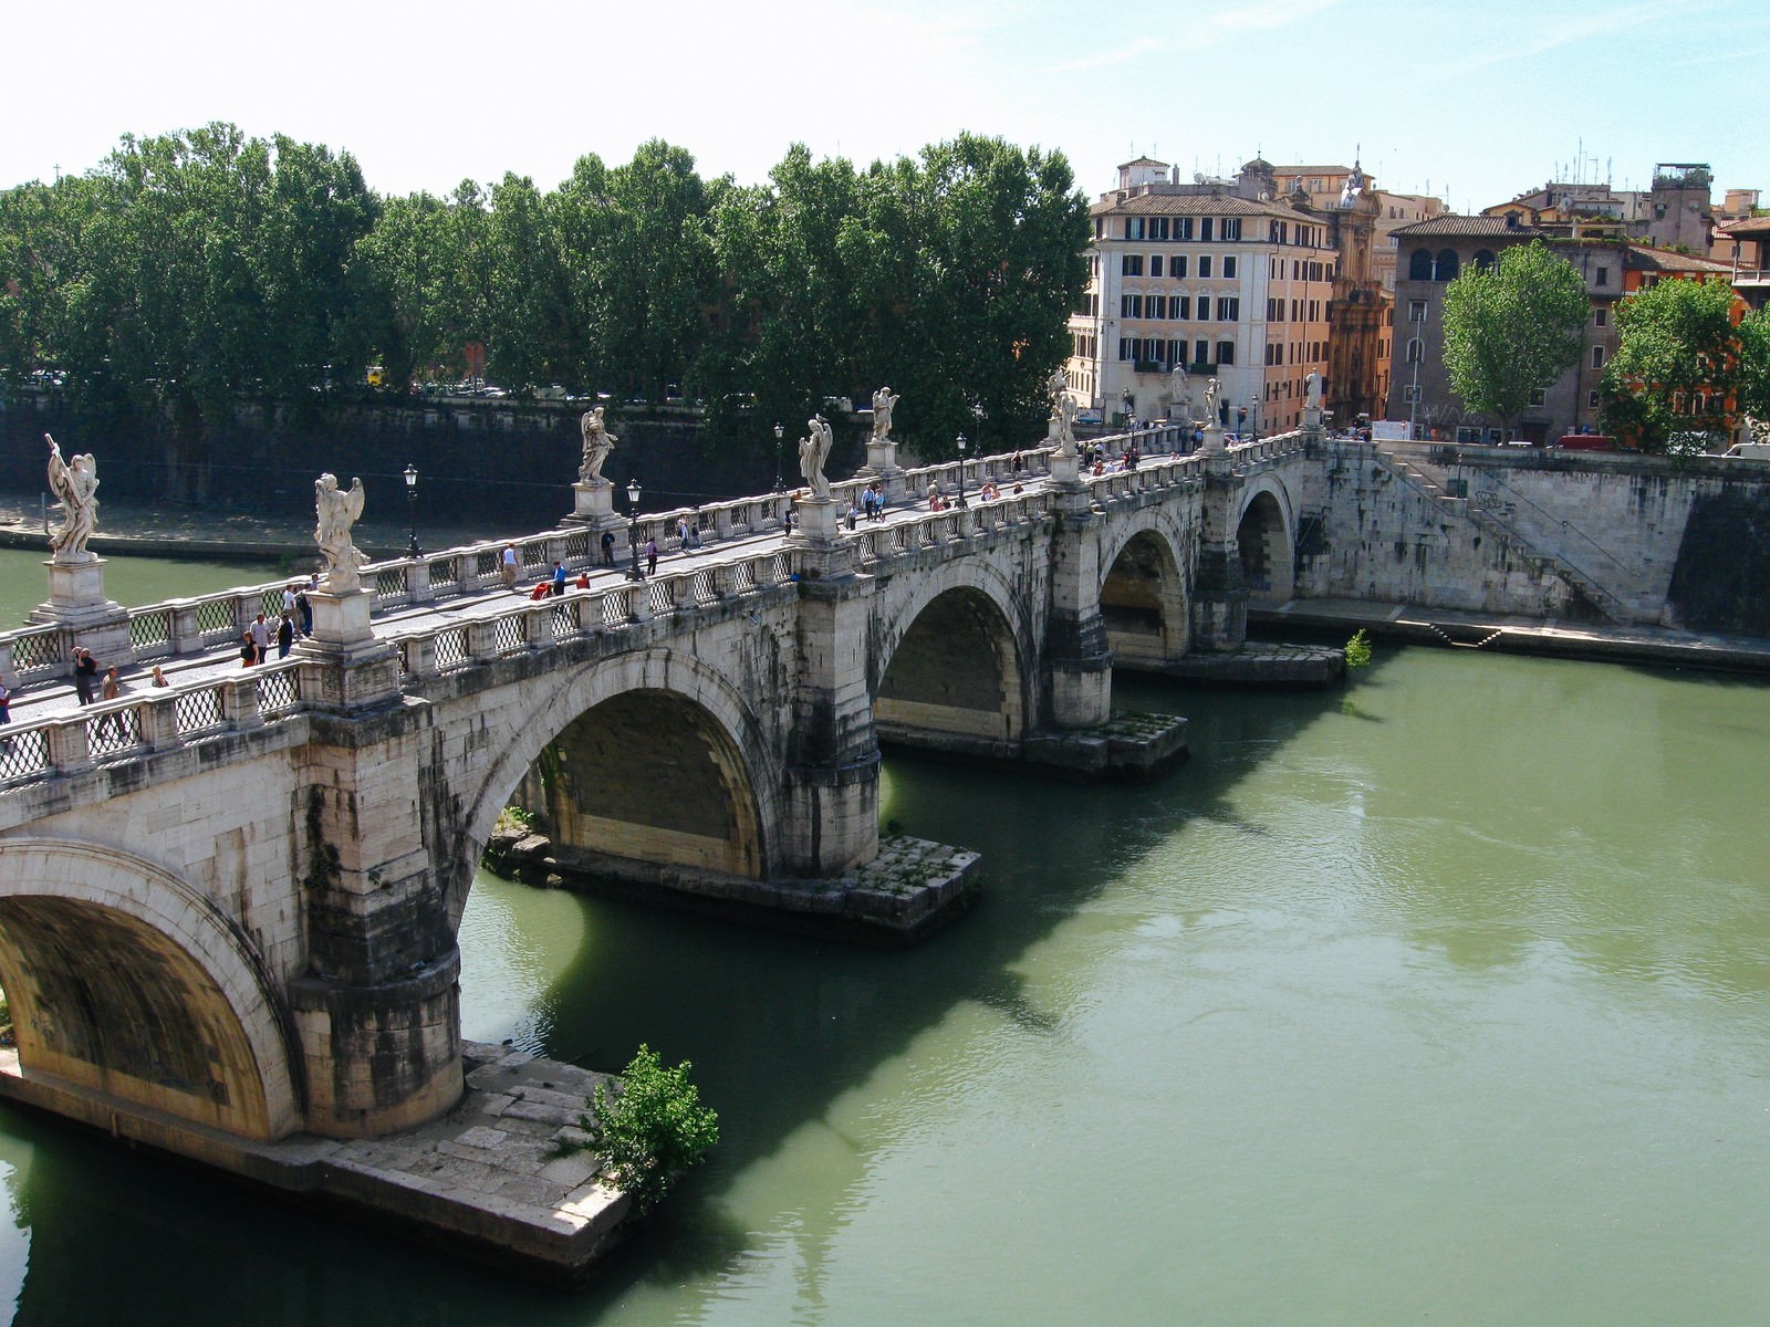
[(572, 794), (556, 817), (559, 846), (596, 839), (596, 851), (618, 858), (766, 876), (781, 770), (729, 681), (694, 655), (650, 649), (589, 664), (542, 695), (480, 779), (446, 878), (451, 925), (480, 848), (549, 748), (559, 757), (552, 777)]

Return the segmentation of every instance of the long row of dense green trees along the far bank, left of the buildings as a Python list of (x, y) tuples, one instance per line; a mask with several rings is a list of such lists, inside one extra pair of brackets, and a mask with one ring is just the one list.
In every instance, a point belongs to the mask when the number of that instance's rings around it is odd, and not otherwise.
[(1023, 437), (1067, 354), (1087, 203), (1060, 152), (961, 134), (860, 170), (793, 145), (766, 184), (644, 143), (556, 189), (506, 173), (381, 196), (349, 152), (232, 124), (124, 136), (94, 170), (0, 193), (0, 372), (96, 416), (168, 419), (181, 460), (242, 400), (453, 380), (673, 389), (789, 428), (825, 396), (904, 395), (926, 455)]

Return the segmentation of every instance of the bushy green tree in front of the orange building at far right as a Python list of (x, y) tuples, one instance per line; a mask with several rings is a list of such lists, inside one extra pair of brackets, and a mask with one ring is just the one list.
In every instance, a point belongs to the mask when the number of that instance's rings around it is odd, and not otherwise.
[(1604, 373), (1605, 428), (1632, 435), (1643, 451), (1731, 432), (1742, 349), (1735, 303), (1720, 280), (1662, 280), (1621, 301), (1621, 343)]

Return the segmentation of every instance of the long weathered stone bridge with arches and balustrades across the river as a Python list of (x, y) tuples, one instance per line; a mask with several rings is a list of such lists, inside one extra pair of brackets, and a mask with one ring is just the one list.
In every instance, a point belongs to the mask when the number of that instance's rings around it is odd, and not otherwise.
[[(1101, 476), (1051, 449), (881, 462), (791, 529), (784, 495), (646, 517), (634, 536), (664, 540), (676, 515), (704, 533), (651, 579), (604, 566), (604, 527), (628, 543), (604, 495), (519, 541), (526, 579), (558, 559), (588, 587), (512, 596), (503, 543), (386, 563), (317, 596), (313, 639), (250, 671), (234, 642), (280, 584), (46, 605), (0, 639), (23, 687), (0, 748), (21, 1095), (211, 1159), (216, 1139), (446, 1113), (457, 927), (536, 770), (558, 839), (611, 872), (786, 890), (878, 853), (881, 740), (1104, 771), (1089, 734), (1115, 658), (1232, 649), (1250, 594), (1290, 598), (1313, 442), (1138, 441), (1136, 469)], [(920, 501), (961, 476), (968, 504)], [(869, 479), (890, 511), (848, 531), (835, 511)], [(78, 708), (76, 637), (173, 685)]]

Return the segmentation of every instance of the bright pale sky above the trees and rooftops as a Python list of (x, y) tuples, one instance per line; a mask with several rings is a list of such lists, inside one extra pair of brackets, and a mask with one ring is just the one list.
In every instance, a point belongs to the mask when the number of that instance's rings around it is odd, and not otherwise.
[(963, 131), (1062, 149), (1092, 198), (1138, 154), (1232, 173), (1359, 156), (1455, 211), (1708, 161), (1763, 188), (1770, 0), (14, 0), (0, 188), (230, 120), (349, 150), (381, 193), (558, 186), (648, 138), (766, 179)]

